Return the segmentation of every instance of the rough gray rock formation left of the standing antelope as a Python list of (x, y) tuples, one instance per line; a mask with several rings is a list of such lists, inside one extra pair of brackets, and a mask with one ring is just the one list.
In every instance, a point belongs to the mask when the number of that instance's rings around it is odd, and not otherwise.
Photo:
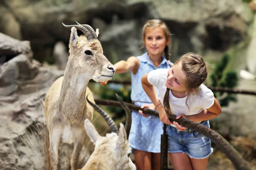
[(29, 42), (0, 37), (0, 54), (12, 56), (0, 65), (0, 169), (42, 169), (43, 98), (63, 71), (32, 59)]

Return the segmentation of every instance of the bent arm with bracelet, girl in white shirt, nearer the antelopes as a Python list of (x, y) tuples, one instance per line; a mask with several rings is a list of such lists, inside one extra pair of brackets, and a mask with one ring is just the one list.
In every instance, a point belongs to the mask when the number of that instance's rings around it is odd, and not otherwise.
[(157, 91), (156, 91), (155, 87), (148, 82), (148, 74), (145, 74), (142, 77), (141, 83), (142, 83), (142, 87), (143, 87), (144, 91), (146, 92), (148, 97), (151, 99), (151, 101), (153, 102), (155, 107), (157, 107), (156, 109), (159, 113), (160, 121), (167, 125), (172, 124), (166, 115), (166, 111), (165, 111), (163, 105), (160, 102), (160, 99), (157, 95)]

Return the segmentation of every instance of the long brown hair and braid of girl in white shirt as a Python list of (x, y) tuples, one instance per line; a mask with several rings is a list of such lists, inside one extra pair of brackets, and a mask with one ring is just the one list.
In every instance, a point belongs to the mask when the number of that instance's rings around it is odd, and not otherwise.
[[(207, 63), (204, 62), (203, 57), (195, 53), (184, 54), (175, 62), (174, 65), (178, 63), (181, 63), (181, 69), (185, 73), (184, 82), (187, 93), (186, 106), (189, 108), (187, 101), (193, 92), (192, 89), (194, 89), (195, 93), (198, 93), (198, 87), (207, 79), (208, 66)], [(169, 104), (169, 94), (170, 89), (167, 88), (163, 98), (163, 105), (168, 118), (170, 118), (170, 115), (172, 114), (172, 110)]]

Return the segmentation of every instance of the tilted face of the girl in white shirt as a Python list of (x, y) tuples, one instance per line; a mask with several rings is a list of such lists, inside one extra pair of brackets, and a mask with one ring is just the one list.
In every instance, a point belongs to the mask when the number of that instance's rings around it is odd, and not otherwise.
[(168, 76), (165, 81), (165, 85), (167, 88), (178, 91), (185, 92), (185, 73), (181, 69), (181, 62), (173, 65), (172, 68), (168, 70)]

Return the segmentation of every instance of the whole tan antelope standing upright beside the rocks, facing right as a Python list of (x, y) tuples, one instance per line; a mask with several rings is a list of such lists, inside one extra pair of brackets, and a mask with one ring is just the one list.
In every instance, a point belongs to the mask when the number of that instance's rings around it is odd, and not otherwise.
[[(92, 92), (87, 88), (90, 79), (104, 82), (111, 79), (115, 67), (103, 55), (97, 34), (89, 25), (70, 25), (69, 57), (64, 76), (58, 78), (49, 88), (44, 104), (44, 116), (49, 131), (50, 169), (57, 170), (58, 146), (60, 141), (73, 144), (71, 170), (77, 167), (80, 150), (86, 132), (84, 120), (93, 118), (93, 108), (87, 104), (88, 95), (94, 102)], [(77, 29), (84, 35), (78, 36)]]

